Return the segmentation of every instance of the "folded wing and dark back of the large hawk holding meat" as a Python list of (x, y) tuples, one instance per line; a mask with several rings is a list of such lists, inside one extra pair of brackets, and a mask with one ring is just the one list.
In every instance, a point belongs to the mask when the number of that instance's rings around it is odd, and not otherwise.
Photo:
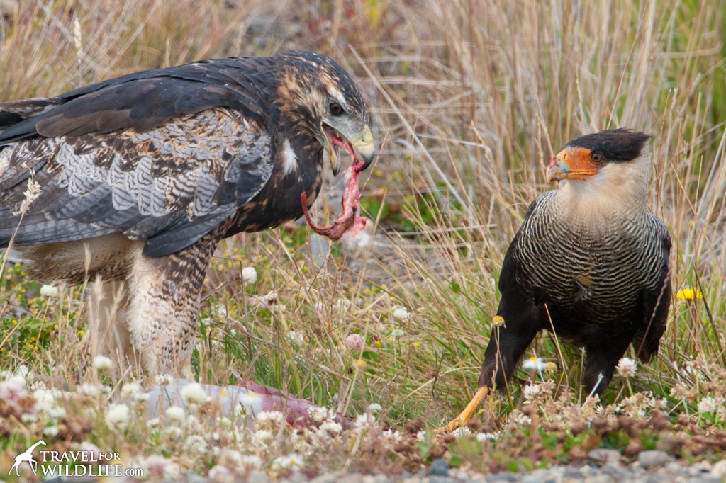
[[(208, 233), (272, 171), (259, 93), (274, 69), (261, 62), (194, 62), (0, 104), (12, 123), (0, 133), (0, 246), (123, 231), (156, 256)], [(21, 221), (29, 183), (40, 194)]]

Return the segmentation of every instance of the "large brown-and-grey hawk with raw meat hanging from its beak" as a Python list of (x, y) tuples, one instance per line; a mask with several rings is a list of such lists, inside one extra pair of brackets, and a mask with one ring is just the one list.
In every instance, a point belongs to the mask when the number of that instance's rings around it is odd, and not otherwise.
[(335, 174), (340, 147), (367, 168), (368, 123), (348, 73), (306, 51), (0, 104), (0, 247), (20, 247), (38, 280), (99, 277), (99, 331), (144, 371), (189, 376), (219, 241), (301, 217), (324, 151)]

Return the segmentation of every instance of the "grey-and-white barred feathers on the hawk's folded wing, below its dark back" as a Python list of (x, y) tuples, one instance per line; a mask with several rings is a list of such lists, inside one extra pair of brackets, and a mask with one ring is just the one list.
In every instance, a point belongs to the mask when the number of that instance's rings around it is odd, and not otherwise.
[[(45, 119), (60, 126), (67, 115)], [(105, 115), (92, 119), (102, 122), (86, 128), (107, 122)], [(72, 123), (67, 128), (78, 132)], [(17, 229), (18, 244), (123, 231), (147, 239), (145, 255), (166, 255), (208, 233), (262, 189), (272, 172), (270, 143), (264, 125), (219, 107), (143, 131), (96, 129), (16, 141), (0, 152), (0, 166), (6, 166), (0, 172), (0, 244), (16, 232), (20, 218), (13, 207), (23, 202), (32, 178), (41, 193)]]

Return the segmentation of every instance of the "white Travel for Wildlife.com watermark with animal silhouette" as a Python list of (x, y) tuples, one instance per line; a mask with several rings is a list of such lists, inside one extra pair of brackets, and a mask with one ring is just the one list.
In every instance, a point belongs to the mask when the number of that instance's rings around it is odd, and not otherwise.
[[(41, 461), (33, 458), (33, 451), (38, 446), (46, 446), (41, 439), (34, 443), (27, 450), (12, 458), (13, 463), (7, 474), (20, 476), (20, 465), (27, 462), (33, 474), (38, 474), (40, 466), (43, 476), (144, 476), (142, 468), (124, 468), (118, 463), (105, 463), (106, 461), (118, 461), (118, 453), (100, 452), (95, 450), (81, 451), (47, 451), (41, 450)], [(40, 465), (38, 465), (40, 463)]]

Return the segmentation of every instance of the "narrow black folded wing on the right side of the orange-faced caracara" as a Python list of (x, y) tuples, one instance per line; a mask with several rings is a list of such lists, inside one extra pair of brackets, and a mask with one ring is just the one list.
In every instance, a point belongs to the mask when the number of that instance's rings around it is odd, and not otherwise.
[(671, 236), (668, 228), (648, 213), (650, 222), (656, 228), (658, 239), (656, 252), (653, 257), (658, 260), (658, 284), (652, 289), (643, 289), (643, 329), (633, 340), (633, 348), (643, 362), (648, 362), (658, 353), (658, 343), (666, 331), (668, 322), (668, 309), (671, 305), (671, 276), (668, 268), (671, 253)]

